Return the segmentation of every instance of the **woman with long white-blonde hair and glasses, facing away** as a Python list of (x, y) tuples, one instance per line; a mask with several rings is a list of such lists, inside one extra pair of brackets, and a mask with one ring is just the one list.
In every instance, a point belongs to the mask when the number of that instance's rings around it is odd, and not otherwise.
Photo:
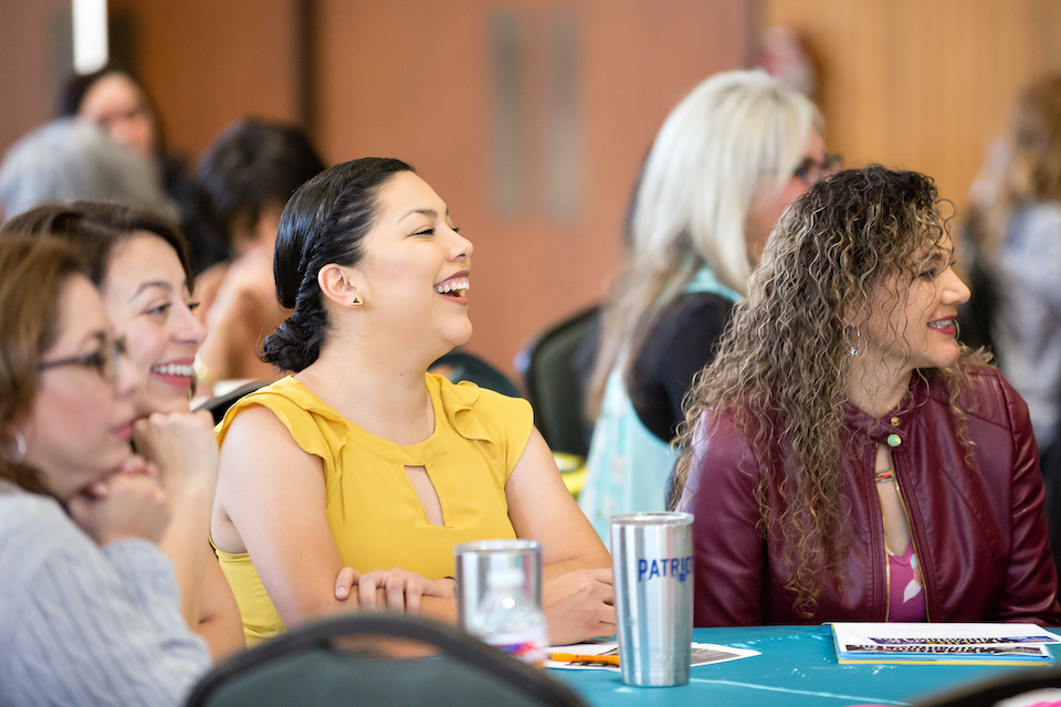
[(763, 72), (712, 76), (664, 122), (590, 379), (597, 422), (579, 505), (606, 542), (610, 516), (663, 509), (693, 376), (778, 217), (837, 162), (813, 104)]

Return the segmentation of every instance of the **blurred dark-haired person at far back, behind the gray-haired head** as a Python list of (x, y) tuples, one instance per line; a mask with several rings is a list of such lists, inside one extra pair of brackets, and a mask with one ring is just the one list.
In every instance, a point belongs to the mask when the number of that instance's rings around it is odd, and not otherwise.
[(105, 66), (71, 77), (60, 94), (57, 114), (98, 125), (115, 143), (153, 163), (154, 179), (179, 209), (181, 230), (190, 243), (197, 273), (228, 256), (224, 236), (210, 219), (204, 194), (189, 177), (183, 161), (167, 150), (157, 106), (133, 74)]

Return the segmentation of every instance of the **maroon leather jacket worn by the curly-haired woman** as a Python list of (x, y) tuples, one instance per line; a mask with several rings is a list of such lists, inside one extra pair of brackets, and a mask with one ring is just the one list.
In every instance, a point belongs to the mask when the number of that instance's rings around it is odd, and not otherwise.
[[(1028, 407), (992, 368), (971, 367), (969, 378), (960, 407), (968, 414), (975, 468), (957, 440), (943, 382), (928, 384), (916, 374), (907, 400), (882, 419), (845, 404), (843, 434), (879, 443), (899, 435), (892, 458), (924, 576), (929, 621), (1061, 625)], [(695, 516), (694, 625), (886, 621), (875, 444), (860, 445), (864, 453), (843, 464), (850, 505), (843, 588), (823, 577), (817, 612), (801, 616), (792, 610), (794, 595), (784, 589), (787, 569), (779, 545), (756, 532), (756, 450), (728, 415), (708, 424), (710, 439), (700, 449), (679, 504)], [(771, 488), (770, 503), (776, 499)]]

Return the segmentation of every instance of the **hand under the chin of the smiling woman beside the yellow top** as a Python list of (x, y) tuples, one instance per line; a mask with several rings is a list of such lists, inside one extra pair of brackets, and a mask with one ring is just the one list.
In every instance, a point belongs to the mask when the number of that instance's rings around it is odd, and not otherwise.
[(209, 412), (153, 413), (133, 428), (137, 451), (158, 468), (167, 490), (187, 483), (207, 488), (218, 481), (218, 441)]

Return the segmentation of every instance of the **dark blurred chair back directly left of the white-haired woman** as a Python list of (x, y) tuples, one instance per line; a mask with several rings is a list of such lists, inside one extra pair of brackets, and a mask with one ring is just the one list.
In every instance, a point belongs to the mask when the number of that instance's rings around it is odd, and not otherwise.
[(554, 452), (586, 456), (589, 423), (575, 357), (598, 317), (591, 307), (548, 329), (524, 348), (523, 380), (534, 422)]

